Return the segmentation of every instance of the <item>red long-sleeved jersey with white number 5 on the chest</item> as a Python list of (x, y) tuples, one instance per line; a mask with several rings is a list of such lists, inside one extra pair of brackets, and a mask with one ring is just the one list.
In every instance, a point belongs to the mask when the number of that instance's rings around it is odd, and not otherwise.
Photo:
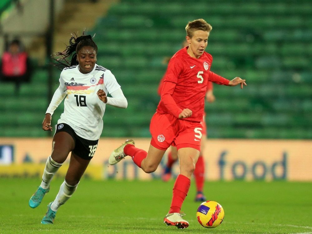
[[(230, 81), (210, 71), (212, 56), (209, 53), (204, 52), (197, 59), (189, 56), (187, 49), (188, 47), (179, 50), (170, 59), (164, 82), (170, 82), (175, 87), (170, 91), (163, 89), (156, 111), (178, 117), (183, 109), (188, 108), (193, 113), (185, 120), (201, 122), (208, 81), (223, 85), (228, 85)], [(174, 102), (168, 99), (168, 93)]]

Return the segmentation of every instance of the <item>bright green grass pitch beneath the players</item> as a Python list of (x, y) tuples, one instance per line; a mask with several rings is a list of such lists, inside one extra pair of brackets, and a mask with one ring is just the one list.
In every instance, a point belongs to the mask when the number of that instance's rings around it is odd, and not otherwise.
[(53, 179), (36, 209), (28, 206), (40, 179), (0, 179), (0, 233), (312, 233), (311, 182), (206, 182), (208, 200), (225, 211), (214, 229), (196, 219), (192, 183), (182, 211), (190, 226), (167, 227), (174, 181), (92, 181), (82, 179), (56, 213), (53, 225), (40, 224), (63, 180)]

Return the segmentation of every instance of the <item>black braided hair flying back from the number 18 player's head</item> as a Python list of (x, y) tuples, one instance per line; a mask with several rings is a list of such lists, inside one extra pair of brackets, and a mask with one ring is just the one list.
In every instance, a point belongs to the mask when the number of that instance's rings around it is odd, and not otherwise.
[[(56, 61), (54, 65), (63, 70), (65, 67), (78, 65), (77, 52), (84, 46), (91, 46), (97, 52), (97, 45), (93, 41), (91, 35), (84, 35), (85, 31), (82, 32), (82, 36), (78, 37), (76, 33), (71, 33), (69, 39), (69, 45), (63, 52), (56, 52), (52, 54), (52, 58)], [(71, 57), (72, 55), (72, 57)], [(69, 61), (69, 57), (71, 60)]]

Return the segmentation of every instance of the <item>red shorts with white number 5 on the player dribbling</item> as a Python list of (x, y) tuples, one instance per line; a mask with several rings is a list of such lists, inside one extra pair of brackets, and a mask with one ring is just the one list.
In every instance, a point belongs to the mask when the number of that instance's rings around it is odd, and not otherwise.
[(170, 145), (177, 149), (191, 147), (200, 151), (202, 125), (200, 122), (178, 119), (171, 114), (156, 112), (151, 119), (149, 131), (151, 145), (166, 150)]

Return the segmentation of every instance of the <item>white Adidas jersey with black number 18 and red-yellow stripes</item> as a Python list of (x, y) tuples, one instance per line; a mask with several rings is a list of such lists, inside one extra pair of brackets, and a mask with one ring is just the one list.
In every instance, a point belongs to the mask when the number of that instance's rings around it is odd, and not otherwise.
[(83, 74), (79, 65), (66, 67), (61, 72), (60, 86), (53, 95), (46, 113), (53, 114), (66, 96), (64, 113), (57, 123), (70, 125), (78, 136), (97, 140), (103, 130), (103, 115), (106, 104), (96, 92), (103, 89), (107, 94), (120, 88), (115, 76), (104, 67), (95, 64), (94, 69)]

